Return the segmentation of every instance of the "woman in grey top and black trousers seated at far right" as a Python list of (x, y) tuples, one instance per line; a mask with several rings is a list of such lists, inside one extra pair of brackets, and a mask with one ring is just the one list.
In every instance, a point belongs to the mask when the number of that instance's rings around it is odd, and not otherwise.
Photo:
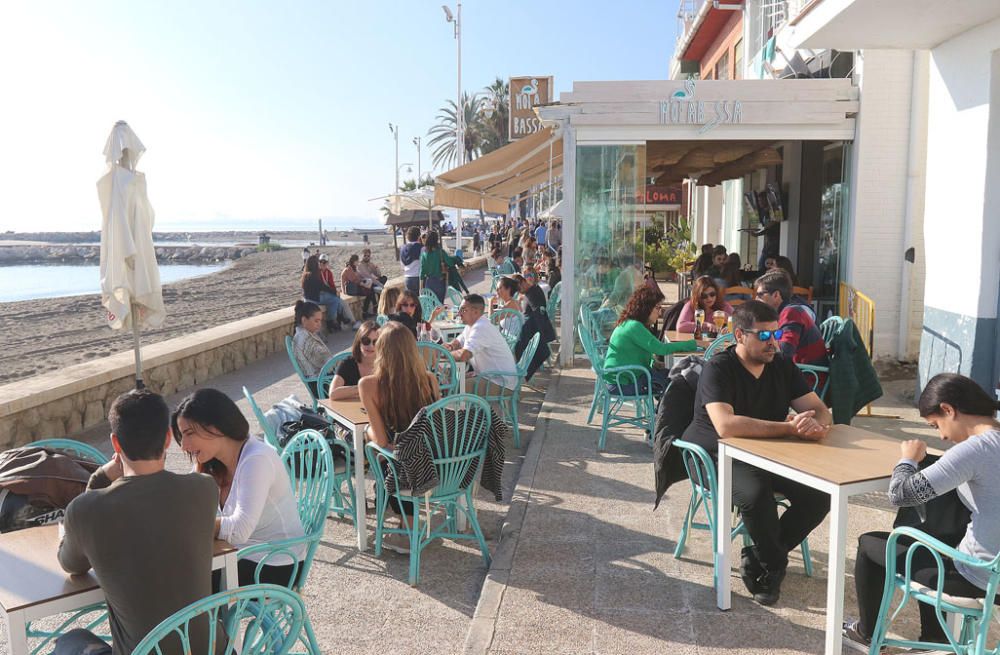
[[(927, 456), (923, 441), (900, 444), (902, 457), (892, 471), (889, 500), (897, 507), (917, 506), (958, 490), (958, 497), (971, 512), (971, 521), (958, 545), (959, 552), (980, 560), (996, 557), (1000, 550), (1000, 422), (994, 418), (1000, 405), (975, 381), (954, 373), (931, 378), (918, 403), (920, 416), (941, 437), (955, 445), (923, 470), (918, 465)], [(854, 584), (861, 618), (844, 623), (844, 637), (868, 645), (878, 620), (886, 575), (887, 532), (869, 532), (858, 540)], [(900, 538), (896, 546), (896, 570), (905, 571), (906, 549), (912, 541)], [(972, 569), (942, 557), (943, 591), (952, 596), (983, 598), (989, 571)], [(933, 555), (917, 549), (911, 578), (937, 589), (938, 568)], [(1000, 596), (995, 600), (1000, 604)], [(920, 605), (919, 641), (947, 643), (934, 607)]]

